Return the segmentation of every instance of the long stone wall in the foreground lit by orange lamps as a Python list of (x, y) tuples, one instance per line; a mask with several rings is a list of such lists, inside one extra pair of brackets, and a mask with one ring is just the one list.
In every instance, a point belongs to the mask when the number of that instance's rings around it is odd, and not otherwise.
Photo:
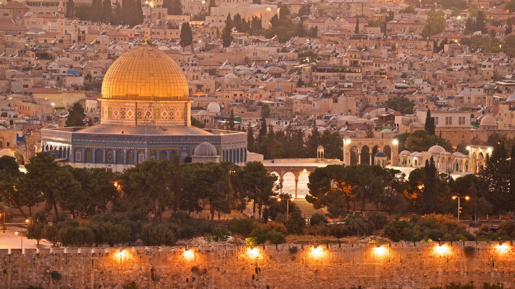
[[(429, 288), (515, 285), (499, 242), (0, 250), (0, 288)], [(290, 248), (297, 246), (294, 252)], [(466, 246), (470, 246), (466, 248)], [(53, 273), (54, 272), (54, 273)], [(53, 274), (52, 274), (53, 273)], [(53, 279), (60, 275), (60, 280)]]

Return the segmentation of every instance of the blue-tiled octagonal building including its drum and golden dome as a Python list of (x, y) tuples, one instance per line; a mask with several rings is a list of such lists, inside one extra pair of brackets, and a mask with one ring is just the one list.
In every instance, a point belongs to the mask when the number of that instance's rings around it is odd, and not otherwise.
[(247, 160), (246, 133), (191, 125), (191, 100), (181, 67), (164, 52), (141, 45), (119, 57), (102, 82), (100, 123), (44, 129), (41, 151), (79, 168), (123, 171), (147, 159), (190, 162), (208, 142), (221, 161)]

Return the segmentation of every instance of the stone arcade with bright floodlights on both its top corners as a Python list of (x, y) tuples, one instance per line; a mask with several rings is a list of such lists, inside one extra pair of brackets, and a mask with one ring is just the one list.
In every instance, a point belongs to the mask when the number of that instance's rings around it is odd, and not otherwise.
[[(358, 164), (362, 164), (362, 153), (368, 148), (368, 164), (372, 164), (374, 147), (384, 152), (391, 151), (390, 161), (393, 166), (399, 165), (399, 142), (397, 139), (349, 138), (344, 140), (344, 164), (351, 165), (351, 149), (357, 148)], [(372, 149), (370, 149), (372, 148)], [(366, 150), (365, 150), (366, 151)]]

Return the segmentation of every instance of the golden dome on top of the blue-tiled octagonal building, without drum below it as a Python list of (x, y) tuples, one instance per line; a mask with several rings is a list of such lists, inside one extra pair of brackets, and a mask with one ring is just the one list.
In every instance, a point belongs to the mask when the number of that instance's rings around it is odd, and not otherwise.
[(109, 67), (102, 99), (188, 100), (190, 90), (181, 67), (150, 45), (129, 50)]

